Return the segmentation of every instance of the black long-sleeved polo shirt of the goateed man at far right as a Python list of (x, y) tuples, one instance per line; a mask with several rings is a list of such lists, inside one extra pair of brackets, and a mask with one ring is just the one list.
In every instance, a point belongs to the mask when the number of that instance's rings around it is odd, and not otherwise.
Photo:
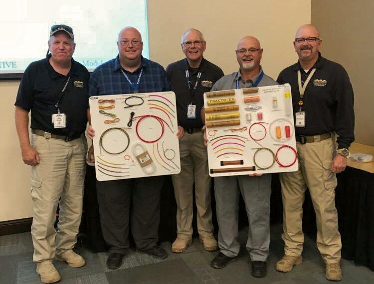
[[(299, 111), (300, 99), (297, 71), (301, 70), (302, 85), (313, 68), (317, 68), (307, 85), (302, 106), (305, 111), (305, 127), (295, 127), (296, 135), (319, 135), (336, 132), (339, 148), (348, 148), (355, 140), (355, 113), (353, 89), (348, 74), (340, 64), (319, 58), (306, 73), (297, 62), (284, 69), (278, 76), (279, 84), (289, 83), (294, 113)], [(294, 115), (295, 119), (295, 115)]]

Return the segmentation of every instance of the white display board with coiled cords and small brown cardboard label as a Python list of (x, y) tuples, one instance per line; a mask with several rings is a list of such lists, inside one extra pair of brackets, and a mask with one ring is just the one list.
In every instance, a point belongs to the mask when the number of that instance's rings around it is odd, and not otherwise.
[(174, 92), (90, 97), (98, 181), (181, 171)]

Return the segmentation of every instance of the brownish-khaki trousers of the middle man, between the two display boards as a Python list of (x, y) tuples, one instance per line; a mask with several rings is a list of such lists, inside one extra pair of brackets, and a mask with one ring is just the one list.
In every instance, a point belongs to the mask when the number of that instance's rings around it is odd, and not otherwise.
[(208, 156), (203, 134), (194, 132), (179, 141), (181, 173), (172, 175), (177, 201), (177, 233), (181, 238), (192, 236), (193, 184), (197, 207), (197, 231), (201, 237), (213, 234), (210, 207), (211, 179), (208, 175)]

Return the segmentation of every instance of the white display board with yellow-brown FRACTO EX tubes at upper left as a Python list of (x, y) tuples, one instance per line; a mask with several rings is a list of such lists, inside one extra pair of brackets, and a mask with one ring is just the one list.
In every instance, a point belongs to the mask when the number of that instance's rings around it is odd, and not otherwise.
[(289, 84), (204, 93), (211, 177), (298, 169)]

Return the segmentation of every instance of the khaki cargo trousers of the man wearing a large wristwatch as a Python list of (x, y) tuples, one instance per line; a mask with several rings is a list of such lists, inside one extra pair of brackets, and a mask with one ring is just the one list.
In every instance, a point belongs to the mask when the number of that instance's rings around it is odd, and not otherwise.
[(280, 174), (283, 199), (283, 235), (287, 255), (303, 251), (304, 193), (308, 187), (317, 218), (317, 247), (327, 263), (341, 259), (342, 242), (335, 207), (337, 179), (331, 171), (335, 144), (332, 139), (316, 143), (296, 143), (299, 170)]

